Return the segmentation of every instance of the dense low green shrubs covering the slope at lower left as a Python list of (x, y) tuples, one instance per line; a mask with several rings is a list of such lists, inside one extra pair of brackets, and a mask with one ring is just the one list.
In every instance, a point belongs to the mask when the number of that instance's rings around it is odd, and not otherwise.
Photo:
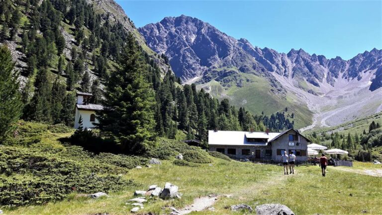
[[(106, 159), (109, 161), (104, 162)], [(44, 204), (62, 200), (73, 191), (118, 191), (135, 184), (115, 174), (127, 172), (124, 167), (129, 167), (128, 161), (132, 166), (141, 160), (113, 154), (94, 157), (79, 146), (56, 149), (2, 146), (0, 174), (9, 177), (0, 178), (0, 205)]]

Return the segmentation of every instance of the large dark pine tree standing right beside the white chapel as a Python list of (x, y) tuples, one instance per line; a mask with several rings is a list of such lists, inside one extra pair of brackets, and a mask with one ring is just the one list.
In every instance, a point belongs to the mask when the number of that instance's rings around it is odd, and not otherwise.
[(126, 153), (137, 153), (154, 136), (154, 91), (147, 83), (143, 55), (129, 33), (119, 68), (106, 83), (104, 109), (98, 114), (101, 132), (114, 134)]

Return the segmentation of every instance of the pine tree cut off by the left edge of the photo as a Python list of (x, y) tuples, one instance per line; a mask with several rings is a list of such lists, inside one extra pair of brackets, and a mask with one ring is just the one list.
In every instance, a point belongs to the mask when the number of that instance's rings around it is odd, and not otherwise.
[(0, 46), (0, 143), (12, 131), (22, 110), (21, 95), (18, 91), (18, 73), (6, 46)]

